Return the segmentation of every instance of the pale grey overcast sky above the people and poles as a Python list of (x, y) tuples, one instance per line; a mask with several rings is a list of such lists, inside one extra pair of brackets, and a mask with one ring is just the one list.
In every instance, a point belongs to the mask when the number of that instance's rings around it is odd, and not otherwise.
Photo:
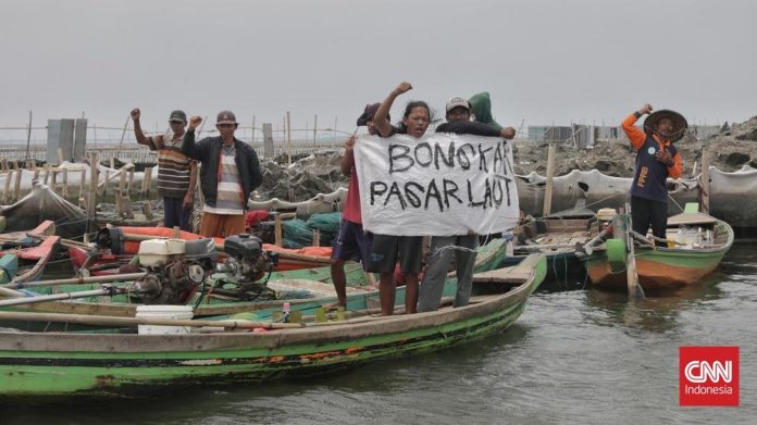
[(489, 91), (501, 124), (618, 124), (650, 102), (690, 123), (757, 115), (757, 1), (0, 2), (0, 126), (140, 107), (351, 132), (401, 80), (443, 112)]

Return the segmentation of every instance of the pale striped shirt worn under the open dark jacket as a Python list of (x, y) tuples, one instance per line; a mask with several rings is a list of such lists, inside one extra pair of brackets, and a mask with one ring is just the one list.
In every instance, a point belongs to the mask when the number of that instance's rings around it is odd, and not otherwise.
[(234, 145), (224, 146), (221, 149), (219, 159), (218, 195), (215, 207), (207, 203), (202, 208), (203, 212), (224, 215), (241, 215), (245, 213), (245, 201), (241, 190), (241, 178), (235, 162)]

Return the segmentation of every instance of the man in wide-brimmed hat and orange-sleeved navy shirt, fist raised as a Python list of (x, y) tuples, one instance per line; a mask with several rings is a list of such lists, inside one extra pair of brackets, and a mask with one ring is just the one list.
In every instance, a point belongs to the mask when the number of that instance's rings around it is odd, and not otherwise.
[[(644, 130), (634, 124), (651, 112), (646, 103), (623, 121), (623, 132), (636, 149), (636, 171), (631, 185), (631, 217), (633, 230), (646, 236), (651, 233), (666, 238), (668, 226), (668, 176), (679, 178), (683, 171), (681, 155), (673, 142), (683, 137), (688, 127), (686, 118), (678, 112), (660, 110), (644, 121)], [(658, 241), (658, 245), (663, 242)]]

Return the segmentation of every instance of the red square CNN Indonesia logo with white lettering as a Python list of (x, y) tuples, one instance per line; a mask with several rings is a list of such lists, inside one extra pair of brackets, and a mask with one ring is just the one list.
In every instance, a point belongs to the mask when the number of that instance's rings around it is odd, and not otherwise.
[(681, 405), (739, 405), (739, 347), (680, 347)]

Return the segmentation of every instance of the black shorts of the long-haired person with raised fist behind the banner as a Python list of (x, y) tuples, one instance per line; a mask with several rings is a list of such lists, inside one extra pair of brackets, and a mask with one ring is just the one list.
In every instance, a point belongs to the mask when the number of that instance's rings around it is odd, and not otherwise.
[(420, 273), (423, 254), (422, 236), (373, 235), (371, 272), (393, 273), (399, 260), (402, 273)]

